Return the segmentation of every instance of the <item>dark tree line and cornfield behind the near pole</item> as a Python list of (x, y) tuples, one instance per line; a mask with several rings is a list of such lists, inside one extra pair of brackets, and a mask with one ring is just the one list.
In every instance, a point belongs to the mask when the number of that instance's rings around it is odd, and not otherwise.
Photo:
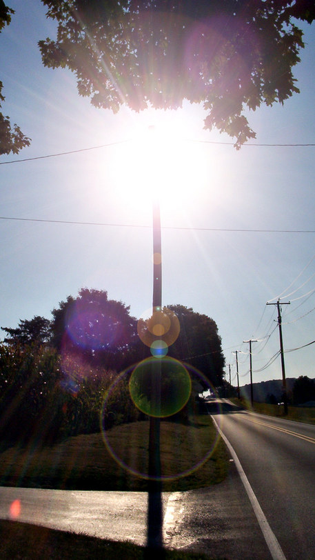
[[(168, 355), (197, 368), (205, 388), (220, 386), (224, 357), (215, 321), (184, 306), (169, 308), (180, 332)], [(99, 431), (109, 390), (103, 427), (143, 418), (128, 388), (135, 364), (151, 356), (137, 323), (130, 308), (108, 299), (104, 290), (82, 288), (52, 310), (52, 319), (35, 316), (20, 320), (17, 328), (1, 327), (6, 334), (0, 343), (3, 445), (53, 443)]]

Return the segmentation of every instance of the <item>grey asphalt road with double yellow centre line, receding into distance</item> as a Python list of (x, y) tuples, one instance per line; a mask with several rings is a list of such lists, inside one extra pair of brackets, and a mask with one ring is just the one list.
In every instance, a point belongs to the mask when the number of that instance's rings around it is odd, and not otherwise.
[(214, 414), (287, 560), (315, 559), (315, 426), (239, 411)]

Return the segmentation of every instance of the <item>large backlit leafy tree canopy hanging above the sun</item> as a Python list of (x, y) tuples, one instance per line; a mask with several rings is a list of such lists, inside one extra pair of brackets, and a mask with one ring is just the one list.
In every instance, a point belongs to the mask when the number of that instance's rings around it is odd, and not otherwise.
[(255, 132), (245, 116), (298, 92), (313, 0), (42, 0), (57, 39), (39, 41), (43, 63), (70, 68), (79, 94), (114, 112), (203, 103), (205, 128), (239, 148)]

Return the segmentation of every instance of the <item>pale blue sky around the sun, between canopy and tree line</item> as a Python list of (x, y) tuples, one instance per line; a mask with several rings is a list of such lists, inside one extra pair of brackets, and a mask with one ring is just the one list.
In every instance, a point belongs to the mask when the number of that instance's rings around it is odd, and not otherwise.
[[(37, 41), (54, 37), (55, 25), (39, 0), (9, 5), (15, 14), (0, 34), (2, 110), (32, 143), (18, 156), (0, 158), (0, 326), (15, 327), (34, 315), (50, 318), (59, 301), (83, 287), (107, 290), (135, 317), (148, 310), (148, 192), (158, 181), (165, 187), (163, 303), (192, 307), (216, 321), (232, 382), (234, 350), (244, 352), (240, 383), (249, 382), (243, 340), (250, 338), (259, 340), (253, 344), (254, 381), (281, 379), (279, 357), (265, 368), (279, 348), (276, 306), (266, 301), (291, 301), (283, 306), (285, 350), (315, 339), (315, 233), (296, 232), (315, 230), (315, 147), (244, 146), (236, 152), (199, 143), (230, 139), (203, 130), (203, 109), (188, 104), (176, 112), (96, 110), (79, 97), (70, 72), (43, 67)], [(249, 114), (253, 143), (315, 143), (315, 28), (303, 29), (306, 47), (294, 72), (301, 93), (284, 106)], [(165, 134), (157, 161), (141, 142), (152, 124)], [(17, 161), (105, 144), (111, 146)], [(314, 349), (285, 353), (287, 377), (315, 377)]]

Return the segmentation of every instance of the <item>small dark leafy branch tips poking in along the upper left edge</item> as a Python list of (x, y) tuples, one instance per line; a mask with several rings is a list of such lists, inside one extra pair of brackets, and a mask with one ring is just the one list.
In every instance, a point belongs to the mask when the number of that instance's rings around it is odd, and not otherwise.
[[(14, 10), (8, 8), (3, 0), (0, 0), (0, 32), (6, 25), (9, 25), (11, 14), (14, 14)], [(3, 83), (0, 81), (0, 108), (1, 103), (6, 99), (2, 90)], [(30, 146), (30, 138), (24, 136), (17, 124), (12, 126), (9, 117), (5, 117), (0, 112), (0, 155), (10, 154), (10, 152), (17, 154), (25, 146)]]

